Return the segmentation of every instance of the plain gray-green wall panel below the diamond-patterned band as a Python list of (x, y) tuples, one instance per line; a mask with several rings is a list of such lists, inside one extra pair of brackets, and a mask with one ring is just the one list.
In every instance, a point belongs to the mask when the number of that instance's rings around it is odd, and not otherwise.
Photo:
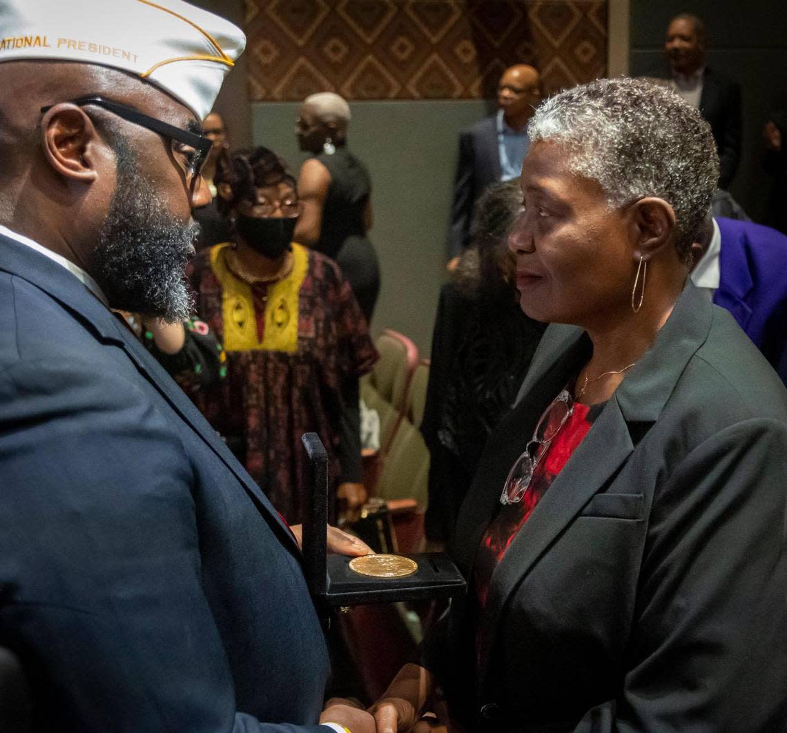
[[(252, 105), (253, 141), (282, 155), (297, 173), (297, 104)], [(445, 273), (449, 207), (460, 129), (490, 108), (483, 101), (352, 101), (349, 146), (368, 166), (382, 271), (372, 330), (393, 328), (428, 355)]]

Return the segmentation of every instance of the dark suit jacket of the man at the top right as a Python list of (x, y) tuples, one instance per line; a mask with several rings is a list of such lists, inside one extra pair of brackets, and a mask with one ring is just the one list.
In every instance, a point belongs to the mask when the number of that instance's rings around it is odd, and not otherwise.
[(726, 190), (741, 162), (741, 85), (711, 68), (705, 68), (700, 112), (711, 125), (716, 149), (719, 151), (719, 188)]

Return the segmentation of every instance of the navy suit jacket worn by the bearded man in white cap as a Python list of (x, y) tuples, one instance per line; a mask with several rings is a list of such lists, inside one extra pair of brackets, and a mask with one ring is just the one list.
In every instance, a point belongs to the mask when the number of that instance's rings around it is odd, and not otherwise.
[(2, 237), (0, 589), (36, 729), (323, 730), (289, 530), (113, 314)]

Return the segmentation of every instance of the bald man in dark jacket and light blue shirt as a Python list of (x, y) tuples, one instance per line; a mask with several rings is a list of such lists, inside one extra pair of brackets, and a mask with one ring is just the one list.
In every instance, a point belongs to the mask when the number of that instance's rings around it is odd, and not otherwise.
[(541, 79), (527, 64), (507, 68), (497, 85), (497, 114), (459, 136), (459, 160), (453, 184), (449, 257), (467, 247), (476, 199), (490, 183), (516, 178), (530, 147), (527, 123), (541, 98)]

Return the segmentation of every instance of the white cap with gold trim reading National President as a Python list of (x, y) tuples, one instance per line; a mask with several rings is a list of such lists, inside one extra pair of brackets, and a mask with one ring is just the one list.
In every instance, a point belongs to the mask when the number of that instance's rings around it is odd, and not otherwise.
[(0, 62), (123, 69), (210, 112), (246, 46), (240, 28), (182, 0), (0, 0)]

